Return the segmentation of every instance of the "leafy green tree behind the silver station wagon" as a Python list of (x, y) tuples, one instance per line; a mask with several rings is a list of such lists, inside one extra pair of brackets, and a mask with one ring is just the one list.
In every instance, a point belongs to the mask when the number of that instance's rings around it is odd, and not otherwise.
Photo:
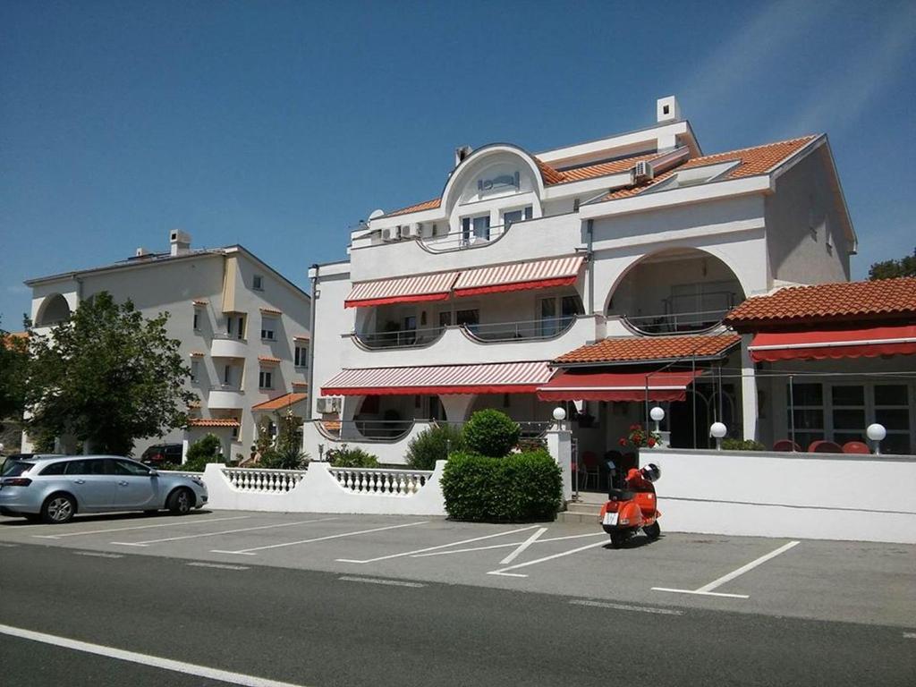
[(191, 370), (169, 339), (169, 313), (147, 319), (102, 291), (49, 336), (30, 333), (27, 431), (71, 435), (97, 453), (126, 455), (134, 442), (183, 427), (195, 395)]

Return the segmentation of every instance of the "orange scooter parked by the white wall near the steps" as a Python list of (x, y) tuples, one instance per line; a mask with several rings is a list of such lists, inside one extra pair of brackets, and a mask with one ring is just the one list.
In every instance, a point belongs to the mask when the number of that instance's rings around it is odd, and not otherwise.
[(616, 465), (608, 461), (607, 502), (601, 507), (601, 526), (611, 537), (611, 546), (619, 549), (640, 529), (649, 540), (657, 540), (661, 534), (659, 518), (661, 513), (656, 504), (655, 482), (661, 476), (658, 465), (649, 463), (643, 468), (631, 468), (627, 472), (623, 488), (616, 488)]

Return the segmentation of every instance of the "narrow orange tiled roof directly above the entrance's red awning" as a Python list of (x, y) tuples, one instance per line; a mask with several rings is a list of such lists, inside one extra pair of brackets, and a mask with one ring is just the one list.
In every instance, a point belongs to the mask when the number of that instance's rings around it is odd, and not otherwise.
[(725, 353), (741, 340), (737, 334), (696, 336), (627, 336), (605, 339), (563, 354), (553, 362), (573, 363), (644, 363), (653, 360), (713, 357)]

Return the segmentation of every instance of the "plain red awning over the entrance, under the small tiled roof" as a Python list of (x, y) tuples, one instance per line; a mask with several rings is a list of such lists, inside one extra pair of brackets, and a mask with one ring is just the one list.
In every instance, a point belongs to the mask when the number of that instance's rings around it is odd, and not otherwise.
[(559, 400), (677, 401), (687, 398), (696, 372), (563, 372), (538, 389), (538, 398)]

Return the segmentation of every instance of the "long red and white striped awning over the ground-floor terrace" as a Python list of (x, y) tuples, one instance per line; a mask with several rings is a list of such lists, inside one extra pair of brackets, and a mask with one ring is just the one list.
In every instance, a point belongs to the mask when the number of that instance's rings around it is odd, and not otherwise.
[(322, 386), (322, 396), (406, 394), (533, 394), (553, 371), (548, 361), (485, 365), (369, 367), (344, 370)]

